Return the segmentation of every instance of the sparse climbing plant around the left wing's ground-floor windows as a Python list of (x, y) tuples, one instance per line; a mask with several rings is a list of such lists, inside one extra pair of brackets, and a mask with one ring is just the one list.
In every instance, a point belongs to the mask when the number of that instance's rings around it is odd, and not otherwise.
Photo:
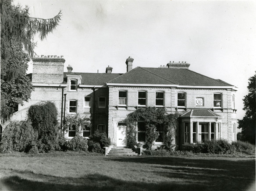
[(72, 128), (75, 127), (76, 135), (82, 134), (83, 127), (92, 127), (91, 119), (89, 117), (81, 117), (79, 114), (68, 115), (64, 120), (64, 130), (68, 132), (69, 127), (71, 130), (73, 130)]

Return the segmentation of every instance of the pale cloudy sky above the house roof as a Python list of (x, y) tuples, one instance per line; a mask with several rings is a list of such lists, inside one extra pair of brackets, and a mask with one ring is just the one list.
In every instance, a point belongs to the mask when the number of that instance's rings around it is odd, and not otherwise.
[[(30, 7), (30, 16), (52, 18), (60, 25), (37, 41), (37, 55), (63, 55), (74, 72), (125, 73), (186, 61), (189, 69), (238, 87), (238, 119), (243, 96), (255, 74), (256, 1), (165, 0), (14, 0)], [(32, 73), (30, 64), (28, 73)]]

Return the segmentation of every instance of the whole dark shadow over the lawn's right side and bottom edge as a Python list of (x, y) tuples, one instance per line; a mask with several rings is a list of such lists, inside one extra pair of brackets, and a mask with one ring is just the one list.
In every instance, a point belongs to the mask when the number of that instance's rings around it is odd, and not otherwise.
[[(124, 180), (100, 172), (83, 177), (57, 177), (12, 170), (13, 176), (0, 180), (0, 190), (20, 191), (244, 191), (255, 181), (255, 160), (185, 159), (178, 157), (106, 157), (102, 162), (142, 163), (156, 182)], [(148, 167), (148, 168), (147, 168)], [(124, 173), (125, 174), (125, 173)], [(24, 178), (20, 178), (24, 177)], [(161, 181), (161, 177), (170, 181)]]

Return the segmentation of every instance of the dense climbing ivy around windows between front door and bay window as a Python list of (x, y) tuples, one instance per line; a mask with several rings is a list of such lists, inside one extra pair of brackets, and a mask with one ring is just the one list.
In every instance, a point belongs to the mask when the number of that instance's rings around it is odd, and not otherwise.
[(136, 145), (135, 127), (138, 121), (144, 121), (146, 124), (146, 149), (151, 149), (153, 141), (158, 137), (156, 126), (164, 124), (164, 143), (165, 149), (171, 150), (174, 145), (175, 130), (178, 128), (178, 112), (168, 114), (164, 108), (146, 107), (129, 113), (125, 122), (128, 125), (127, 146)]

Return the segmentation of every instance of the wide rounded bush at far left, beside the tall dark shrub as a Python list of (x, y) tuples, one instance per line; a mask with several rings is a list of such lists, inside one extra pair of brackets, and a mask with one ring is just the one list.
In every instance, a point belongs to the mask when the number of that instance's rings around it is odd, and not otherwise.
[(29, 152), (36, 147), (37, 132), (28, 121), (12, 121), (3, 131), (1, 152)]

